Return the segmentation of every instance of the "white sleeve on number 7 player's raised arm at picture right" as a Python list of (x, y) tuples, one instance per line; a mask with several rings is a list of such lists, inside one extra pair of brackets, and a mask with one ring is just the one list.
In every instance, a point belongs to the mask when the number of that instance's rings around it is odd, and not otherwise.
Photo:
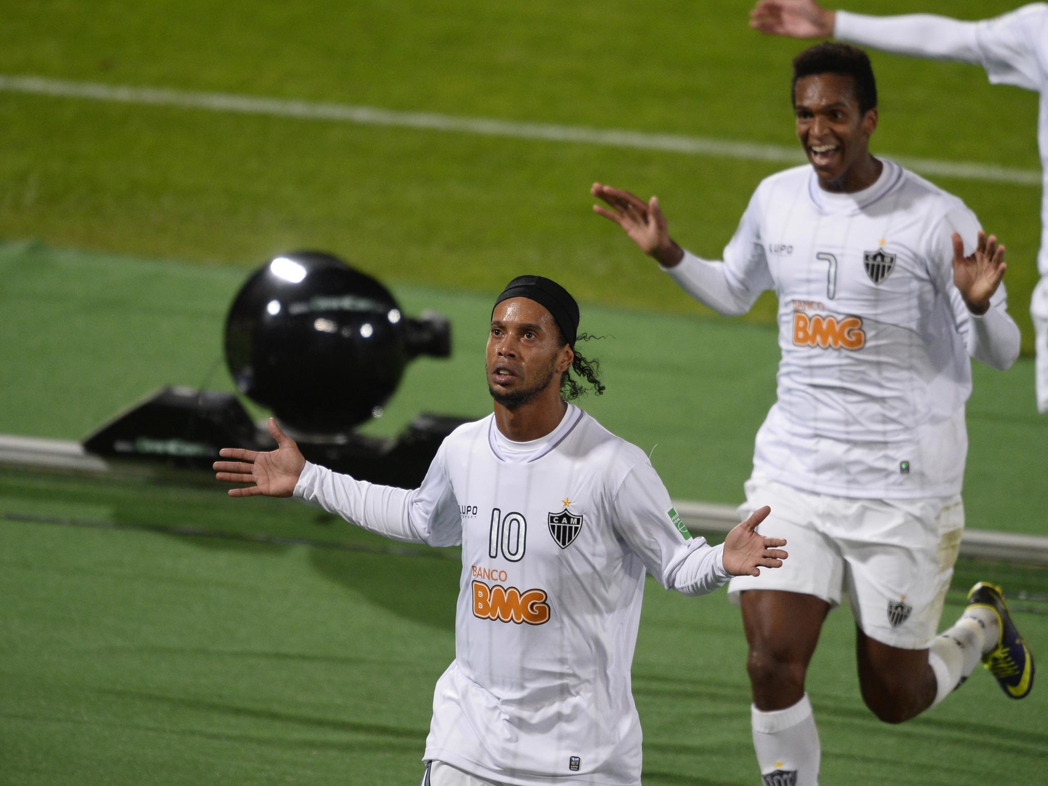
[(960, 290), (954, 284), (954, 245), (956, 232), (964, 242), (965, 254), (975, 250), (979, 235), (979, 219), (963, 204), (949, 211), (932, 230), (927, 239), (927, 261), (940, 291), (949, 298), (957, 330), (966, 342), (968, 355), (990, 368), (1004, 371), (1019, 357), (1021, 336), (1019, 326), (1008, 314), (1008, 294), (1004, 282), (989, 301), (986, 313), (977, 315), (964, 305)]

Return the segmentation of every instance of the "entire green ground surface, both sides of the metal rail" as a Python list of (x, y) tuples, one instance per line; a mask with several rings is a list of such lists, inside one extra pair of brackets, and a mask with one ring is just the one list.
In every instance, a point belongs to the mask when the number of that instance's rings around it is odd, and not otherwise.
[[(5, 8), (0, 75), (795, 144), (801, 45), (751, 34), (749, 7), (51, 0)], [(973, 67), (872, 58), (875, 153), (1036, 169), (1035, 95)], [(590, 214), (588, 188), (657, 193), (675, 237), (716, 257), (780, 165), (4, 91), (0, 127), (0, 433), (75, 439), (162, 384), (230, 389), (232, 294), (264, 259), (308, 246), (388, 282), (410, 312), (453, 319), (455, 356), (417, 362), (373, 433), (446, 409), (433, 401), (487, 411), (484, 308), (541, 272), (609, 335), (591, 345), (608, 395), (584, 406), (653, 450), (674, 496), (738, 500), (774, 393), (773, 302), (745, 320), (702, 311)], [(1039, 189), (935, 179), (1008, 245), (1028, 352)], [(969, 525), (1048, 532), (1030, 359), (977, 368), (968, 420)], [(2, 471), (0, 784), (414, 784), (457, 577), (454, 551), (394, 548), (289, 502)], [(978, 578), (1004, 582), (1048, 652), (1045, 572), (962, 562), (944, 619)], [(831, 615), (809, 682), (825, 783), (1044, 780), (1040, 690), (1010, 702), (976, 674), (926, 716), (879, 724), (851, 626)], [(757, 781), (743, 658), (722, 593), (649, 583), (633, 670), (646, 784)]]

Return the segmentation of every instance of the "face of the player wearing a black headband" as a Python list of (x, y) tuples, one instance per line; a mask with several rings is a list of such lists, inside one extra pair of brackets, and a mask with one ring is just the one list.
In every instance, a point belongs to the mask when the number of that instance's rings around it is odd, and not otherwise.
[(487, 334), (487, 389), (503, 407), (515, 409), (552, 386), (574, 359), (561, 343), (553, 315), (533, 300), (510, 298), (495, 307)]

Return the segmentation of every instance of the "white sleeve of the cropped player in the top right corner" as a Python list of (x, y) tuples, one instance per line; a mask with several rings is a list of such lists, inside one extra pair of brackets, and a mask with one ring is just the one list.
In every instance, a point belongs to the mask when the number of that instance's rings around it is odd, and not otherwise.
[(871, 17), (838, 10), (833, 35), (897, 54), (981, 65), (994, 84), (1040, 90), (1044, 83), (1040, 42), (1046, 24), (1045, 3), (1024, 5), (981, 22), (932, 14)]

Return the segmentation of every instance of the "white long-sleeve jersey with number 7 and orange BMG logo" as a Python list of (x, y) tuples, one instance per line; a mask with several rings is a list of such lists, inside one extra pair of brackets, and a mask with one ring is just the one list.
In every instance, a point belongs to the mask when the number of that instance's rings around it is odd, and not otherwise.
[(692, 255), (668, 272), (722, 313), (779, 296), (778, 400), (757, 435), (755, 473), (810, 492), (905, 499), (960, 493), (969, 353), (1019, 354), (1002, 285), (983, 316), (953, 280), (979, 222), (964, 203), (892, 161), (855, 194), (811, 167), (765, 179), (723, 262)]

